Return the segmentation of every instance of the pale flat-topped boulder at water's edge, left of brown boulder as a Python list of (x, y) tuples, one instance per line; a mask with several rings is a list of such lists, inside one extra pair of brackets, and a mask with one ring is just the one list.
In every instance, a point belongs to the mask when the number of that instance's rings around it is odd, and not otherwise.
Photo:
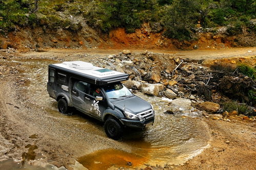
[(191, 107), (191, 101), (189, 99), (178, 98), (178, 99), (174, 99), (171, 102), (171, 108), (172, 108), (172, 111), (175, 113), (175, 112), (189, 111), (193, 107)]

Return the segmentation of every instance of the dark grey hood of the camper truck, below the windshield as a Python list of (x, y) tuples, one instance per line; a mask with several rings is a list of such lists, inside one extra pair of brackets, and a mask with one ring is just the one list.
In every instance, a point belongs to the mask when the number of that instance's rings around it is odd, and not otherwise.
[(126, 111), (131, 112), (133, 114), (138, 114), (152, 109), (151, 105), (147, 101), (137, 96), (129, 97), (122, 100), (115, 100), (112, 101), (112, 103), (116, 107), (121, 108), (122, 110), (124, 110), (125, 108)]

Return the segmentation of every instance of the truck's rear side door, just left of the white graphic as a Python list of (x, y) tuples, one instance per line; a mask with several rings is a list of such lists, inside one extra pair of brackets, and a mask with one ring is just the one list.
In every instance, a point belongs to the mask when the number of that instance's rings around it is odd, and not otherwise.
[(86, 97), (87, 82), (76, 81), (71, 91), (73, 106), (82, 112), (90, 114), (89, 98)]

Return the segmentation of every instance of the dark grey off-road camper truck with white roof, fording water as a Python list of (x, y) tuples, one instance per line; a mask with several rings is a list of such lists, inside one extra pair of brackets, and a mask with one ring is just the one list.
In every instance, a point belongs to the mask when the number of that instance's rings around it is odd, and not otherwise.
[(154, 122), (152, 105), (121, 83), (128, 76), (83, 61), (57, 63), (49, 65), (47, 91), (58, 111), (67, 114), (74, 107), (103, 121), (107, 136), (119, 139), (124, 126), (144, 129)]

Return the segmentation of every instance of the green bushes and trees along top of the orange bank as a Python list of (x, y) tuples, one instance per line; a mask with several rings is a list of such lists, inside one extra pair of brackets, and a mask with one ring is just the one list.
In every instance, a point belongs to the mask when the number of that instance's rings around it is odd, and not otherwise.
[[(0, 0), (0, 30), (43, 27), (76, 32), (86, 22), (103, 33), (115, 28), (132, 33), (149, 23), (159, 28), (152, 31), (189, 40), (200, 27), (226, 26), (229, 35), (255, 33), (255, 11), (253, 0)], [(78, 16), (83, 19), (77, 22)]]

